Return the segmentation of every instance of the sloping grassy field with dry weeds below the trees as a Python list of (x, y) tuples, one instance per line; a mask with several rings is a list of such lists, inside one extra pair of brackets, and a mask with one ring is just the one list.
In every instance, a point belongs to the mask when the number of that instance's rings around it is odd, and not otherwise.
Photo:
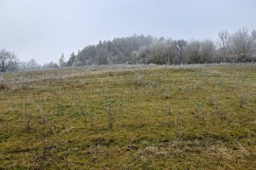
[(0, 76), (0, 169), (256, 169), (256, 65)]

